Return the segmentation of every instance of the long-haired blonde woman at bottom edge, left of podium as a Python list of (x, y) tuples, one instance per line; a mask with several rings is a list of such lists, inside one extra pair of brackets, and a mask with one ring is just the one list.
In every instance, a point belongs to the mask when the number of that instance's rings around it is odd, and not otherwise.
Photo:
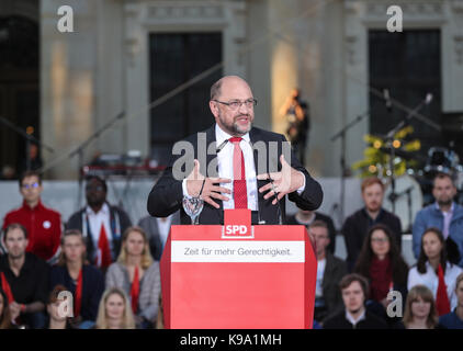
[(135, 329), (131, 304), (121, 288), (111, 287), (103, 293), (94, 328)]

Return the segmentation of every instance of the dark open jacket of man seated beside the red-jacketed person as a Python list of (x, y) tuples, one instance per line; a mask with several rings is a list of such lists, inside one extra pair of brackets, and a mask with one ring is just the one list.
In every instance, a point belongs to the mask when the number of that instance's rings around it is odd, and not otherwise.
[[(132, 226), (131, 218), (121, 208), (116, 206), (110, 207), (110, 222), (111, 222), (111, 230), (112, 230), (112, 260), (115, 261), (117, 259), (117, 256), (121, 251), (121, 239), (122, 234)], [(81, 208), (80, 211), (72, 214), (66, 224), (66, 230), (67, 229), (79, 229), (83, 234), (83, 239), (86, 240), (87, 246), (87, 258), (89, 259), (90, 263), (94, 263), (94, 257), (95, 257), (95, 248), (93, 246), (93, 240), (90, 234), (90, 228), (86, 224), (86, 207)], [(83, 225), (86, 225), (86, 230), (83, 230)], [(86, 235), (87, 233), (87, 235)]]

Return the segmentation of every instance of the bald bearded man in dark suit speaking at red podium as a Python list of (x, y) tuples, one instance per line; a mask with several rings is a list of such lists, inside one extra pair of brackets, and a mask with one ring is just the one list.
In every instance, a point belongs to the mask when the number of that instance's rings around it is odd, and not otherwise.
[[(181, 210), (182, 199), (204, 200), (200, 224), (223, 224), (223, 210), (249, 208), (253, 224), (279, 224), (285, 195), (303, 210), (316, 210), (321, 186), (301, 165), (285, 137), (252, 127), (253, 98), (248, 83), (227, 76), (211, 88), (215, 125), (177, 143), (172, 158), (148, 197), (148, 212), (166, 217)], [(233, 189), (233, 191), (232, 191)]]

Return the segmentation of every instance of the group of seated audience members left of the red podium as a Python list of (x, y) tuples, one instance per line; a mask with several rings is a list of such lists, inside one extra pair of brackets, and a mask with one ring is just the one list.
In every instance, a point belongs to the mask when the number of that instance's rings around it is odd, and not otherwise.
[(37, 172), (25, 172), (19, 183), (23, 204), (2, 227), (0, 328), (161, 325), (159, 259), (178, 216), (148, 216), (133, 226), (106, 201), (105, 181), (89, 177), (86, 206), (63, 223), (42, 203)]

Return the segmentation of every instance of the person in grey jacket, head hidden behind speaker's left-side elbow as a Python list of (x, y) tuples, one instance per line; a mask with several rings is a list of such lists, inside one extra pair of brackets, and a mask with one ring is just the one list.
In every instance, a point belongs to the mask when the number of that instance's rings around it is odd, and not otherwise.
[(180, 225), (180, 212), (168, 217), (146, 216), (138, 222), (138, 226), (145, 230), (149, 242), (149, 251), (156, 261), (160, 261), (170, 226)]

